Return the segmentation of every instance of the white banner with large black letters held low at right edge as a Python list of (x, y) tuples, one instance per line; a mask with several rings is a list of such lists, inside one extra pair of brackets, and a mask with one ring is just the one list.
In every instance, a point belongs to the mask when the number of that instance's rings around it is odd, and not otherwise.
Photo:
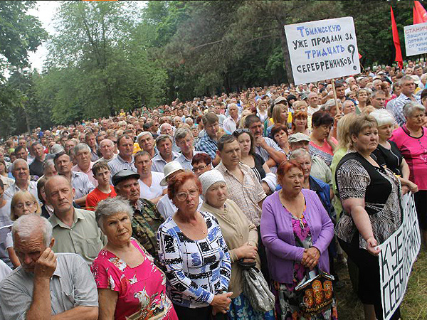
[(404, 209), (402, 225), (380, 245), (379, 279), (384, 320), (391, 318), (404, 299), (412, 265), (421, 246), (412, 194), (404, 196), (402, 207)]

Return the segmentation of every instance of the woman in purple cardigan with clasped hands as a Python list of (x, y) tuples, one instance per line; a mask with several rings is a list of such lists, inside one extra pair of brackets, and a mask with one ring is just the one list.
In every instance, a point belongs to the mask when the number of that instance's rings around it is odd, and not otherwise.
[[(314, 191), (303, 189), (300, 164), (283, 161), (277, 171), (282, 190), (265, 198), (261, 237), (267, 249), (271, 288), (278, 319), (305, 319), (300, 313), (295, 287), (318, 265), (329, 272), (327, 247), (334, 225)], [(310, 319), (337, 319), (337, 305)]]

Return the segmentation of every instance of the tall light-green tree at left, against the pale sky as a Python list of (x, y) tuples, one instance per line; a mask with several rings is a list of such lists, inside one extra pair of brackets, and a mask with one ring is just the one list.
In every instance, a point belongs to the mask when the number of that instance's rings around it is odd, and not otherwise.
[(108, 116), (162, 102), (166, 73), (138, 33), (138, 9), (127, 2), (70, 1), (61, 5), (58, 36), (38, 95), (53, 121)]

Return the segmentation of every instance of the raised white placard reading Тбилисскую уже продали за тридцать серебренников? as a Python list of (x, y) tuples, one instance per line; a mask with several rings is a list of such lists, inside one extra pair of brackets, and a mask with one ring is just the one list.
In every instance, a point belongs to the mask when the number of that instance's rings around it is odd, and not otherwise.
[(352, 17), (285, 26), (295, 85), (360, 73)]

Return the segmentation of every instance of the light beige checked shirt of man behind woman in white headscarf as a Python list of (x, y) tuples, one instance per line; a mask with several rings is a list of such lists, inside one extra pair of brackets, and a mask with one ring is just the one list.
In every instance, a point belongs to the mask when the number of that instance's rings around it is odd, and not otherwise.
[(243, 172), (243, 183), (238, 181), (222, 161), (215, 167), (221, 172), (226, 181), (228, 198), (237, 203), (248, 219), (258, 227), (260, 225), (261, 213), (263, 210), (258, 206), (258, 202), (262, 201), (266, 195), (258, 178), (256, 178), (252, 169), (246, 164), (239, 164), (239, 169)]

